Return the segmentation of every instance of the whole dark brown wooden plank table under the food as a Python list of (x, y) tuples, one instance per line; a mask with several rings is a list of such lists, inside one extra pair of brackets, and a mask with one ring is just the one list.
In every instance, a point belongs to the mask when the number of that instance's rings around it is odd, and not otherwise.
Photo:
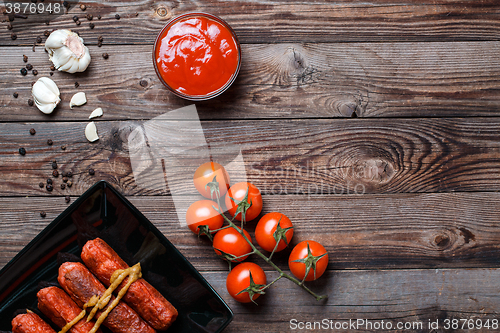
[[(1, 24), (0, 267), (68, 206), (65, 196), (74, 200), (104, 179), (229, 303), (235, 317), (226, 332), (298, 331), (323, 319), (422, 323), (421, 332), (439, 320), (437, 332), (447, 320), (500, 319), (499, 1), (84, 3), (86, 11), (74, 7), (48, 26)], [(170, 193), (134, 181), (127, 124), (192, 104), (161, 85), (151, 61), (158, 31), (189, 11), (219, 15), (242, 44), (234, 85), (196, 103), (207, 141), (241, 147), (263, 213), (287, 214), (294, 244), (325, 245), (328, 270), (309, 286), (327, 301), (283, 280), (259, 306), (237, 304), (225, 288), (227, 265), (180, 226)], [(92, 62), (81, 74), (53, 74), (63, 102), (47, 116), (27, 101), (31, 82), (51, 72), (44, 31), (59, 28), (80, 33)], [(23, 54), (38, 76), (20, 74)], [(88, 103), (71, 110), (77, 91)], [(101, 138), (90, 144), (83, 130), (96, 107), (104, 110)], [(52, 177), (52, 160), (73, 173), (71, 188), (60, 188), (60, 176), (52, 192), (39, 187)], [(286, 261), (276, 256), (283, 268)]]

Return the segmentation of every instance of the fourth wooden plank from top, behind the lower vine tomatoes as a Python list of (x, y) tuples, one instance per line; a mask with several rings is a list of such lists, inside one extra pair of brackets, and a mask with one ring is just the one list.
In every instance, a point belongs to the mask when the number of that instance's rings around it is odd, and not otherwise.
[[(198, 239), (178, 218), (171, 197), (128, 199), (197, 269), (227, 270), (210, 242)], [(184, 199), (187, 205), (194, 200)], [(484, 268), (500, 265), (499, 202), (498, 192), (264, 196), (262, 214), (286, 214), (295, 227), (292, 246), (307, 239), (321, 242), (333, 270)], [(67, 206), (63, 197), (0, 198), (0, 267)], [(255, 225), (246, 227), (252, 237)], [(283, 269), (287, 253), (274, 257)]]

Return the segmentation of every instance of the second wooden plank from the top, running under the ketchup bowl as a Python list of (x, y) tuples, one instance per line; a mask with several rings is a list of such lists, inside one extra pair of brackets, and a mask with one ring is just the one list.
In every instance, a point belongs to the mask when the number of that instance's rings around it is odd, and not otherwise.
[[(498, 116), (500, 42), (244, 45), (238, 79), (225, 94), (197, 103), (201, 119)], [(0, 121), (154, 118), (191, 104), (160, 83), (149, 46), (91, 47), (86, 72), (56, 72), (63, 102), (52, 116), (28, 107), (31, 83), (49, 76), (40, 49), (6, 47), (0, 54)], [(110, 55), (104, 60), (101, 54)], [(22, 55), (39, 72), (26, 77)], [(134, 59), (134, 61), (130, 61)], [(145, 80), (147, 86), (139, 84)], [(76, 89), (74, 84), (79, 83)], [(88, 103), (71, 110), (84, 91)], [(18, 92), (19, 97), (13, 97)]]

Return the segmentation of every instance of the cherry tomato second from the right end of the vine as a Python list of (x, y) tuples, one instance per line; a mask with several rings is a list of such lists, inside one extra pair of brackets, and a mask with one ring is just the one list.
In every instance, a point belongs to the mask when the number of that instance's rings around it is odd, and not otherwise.
[[(279, 252), (285, 249), (286, 245), (290, 243), (290, 240), (293, 236), (293, 225), (290, 219), (281, 213), (268, 213), (261, 217), (259, 223), (255, 227), (255, 240), (257, 240), (257, 244), (260, 245), (261, 248), (268, 252), (272, 252), (276, 246), (276, 238), (275, 233), (278, 228), (278, 222), (280, 226), (280, 230), (278, 230), (278, 234), (282, 234), (282, 238), (276, 248), (275, 252)], [(287, 230), (284, 229), (292, 228)], [(286, 243), (284, 241), (286, 239)]]

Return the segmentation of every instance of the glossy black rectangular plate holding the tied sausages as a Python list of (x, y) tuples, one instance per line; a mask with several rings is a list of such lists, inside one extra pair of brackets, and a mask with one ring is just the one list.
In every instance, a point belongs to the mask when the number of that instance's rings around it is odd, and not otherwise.
[(57, 283), (60, 264), (80, 257), (83, 245), (96, 237), (129, 265), (141, 262), (143, 277), (177, 308), (179, 317), (167, 332), (221, 332), (232, 320), (231, 309), (175, 246), (110, 184), (100, 181), (0, 271), (0, 330), (12, 329), (16, 312), (30, 309), (41, 315), (38, 290)]

